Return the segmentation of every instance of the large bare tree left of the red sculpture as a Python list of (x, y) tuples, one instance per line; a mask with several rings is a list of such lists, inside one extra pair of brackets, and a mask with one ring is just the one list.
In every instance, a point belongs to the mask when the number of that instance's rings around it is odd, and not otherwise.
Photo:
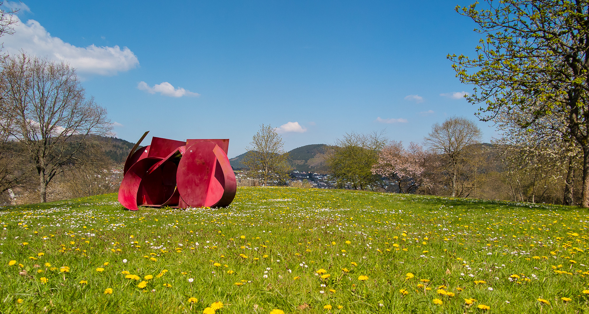
[(112, 125), (68, 64), (21, 54), (6, 56), (1, 66), (3, 128), (21, 147), (11, 152), (31, 161), (46, 202), (56, 175), (96, 162), (94, 138), (109, 135)]

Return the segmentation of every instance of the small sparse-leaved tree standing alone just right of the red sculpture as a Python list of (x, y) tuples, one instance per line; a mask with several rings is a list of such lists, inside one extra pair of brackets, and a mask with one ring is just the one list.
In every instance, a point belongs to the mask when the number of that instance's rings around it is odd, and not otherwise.
[(285, 152), (282, 137), (276, 133), (272, 126), (261, 125), (260, 131), (253, 136), (252, 147), (246, 148), (243, 165), (248, 169), (248, 173), (253, 178), (260, 179), (263, 185), (269, 185), (270, 182), (284, 183), (290, 171), (286, 160), (289, 153)]

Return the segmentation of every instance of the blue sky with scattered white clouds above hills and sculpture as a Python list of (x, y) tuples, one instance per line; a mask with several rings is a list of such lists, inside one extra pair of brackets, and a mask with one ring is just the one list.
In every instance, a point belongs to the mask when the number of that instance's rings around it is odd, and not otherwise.
[[(478, 107), (448, 53), (481, 37), (456, 1), (24, 1), (4, 51), (62, 59), (108, 109), (117, 137), (230, 138), (259, 125), (285, 149), (386, 128), (421, 142)], [(484, 140), (495, 135), (478, 122)]]

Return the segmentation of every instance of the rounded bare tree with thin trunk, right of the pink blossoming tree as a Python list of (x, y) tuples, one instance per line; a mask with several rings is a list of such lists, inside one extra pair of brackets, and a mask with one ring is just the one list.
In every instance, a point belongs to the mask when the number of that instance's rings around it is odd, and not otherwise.
[(452, 175), (452, 197), (456, 196), (456, 177), (461, 163), (468, 161), (469, 146), (481, 142), (481, 129), (471, 120), (453, 116), (441, 125), (434, 123), (423, 141), (432, 151), (445, 158), (445, 168)]

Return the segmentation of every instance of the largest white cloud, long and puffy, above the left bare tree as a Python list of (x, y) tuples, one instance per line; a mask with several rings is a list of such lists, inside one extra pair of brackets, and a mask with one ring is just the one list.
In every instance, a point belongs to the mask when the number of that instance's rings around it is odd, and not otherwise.
[[(12, 17), (18, 19), (16, 15)], [(137, 56), (127, 47), (98, 47), (94, 44), (85, 48), (74, 46), (51, 36), (34, 19), (29, 19), (27, 23), (18, 20), (14, 31), (14, 35), (6, 35), (0, 39), (4, 41), (5, 51), (9, 54), (15, 55), (24, 51), (41, 58), (65, 61), (81, 74), (115, 75), (139, 64)]]

